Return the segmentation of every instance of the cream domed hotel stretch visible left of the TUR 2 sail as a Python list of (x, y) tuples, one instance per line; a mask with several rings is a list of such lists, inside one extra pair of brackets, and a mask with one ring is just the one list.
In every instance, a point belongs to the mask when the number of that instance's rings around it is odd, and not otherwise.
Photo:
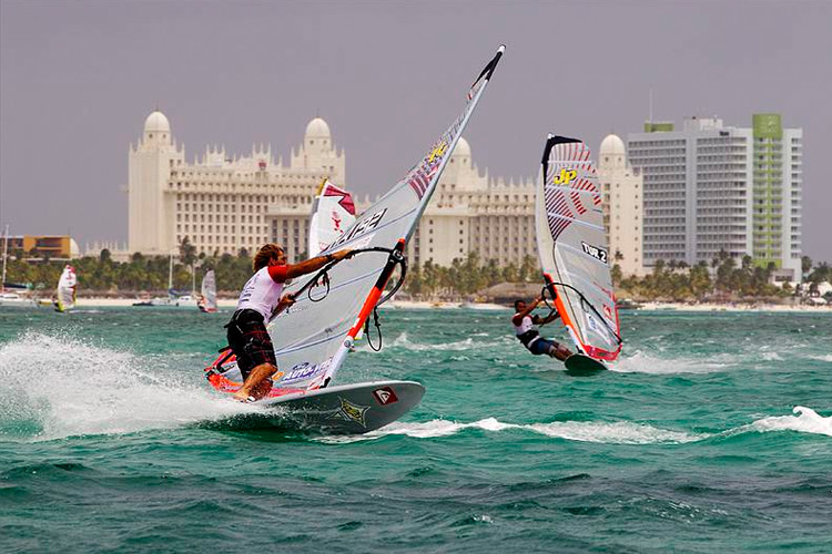
[[(306, 250), (318, 184), (326, 176), (345, 184), (344, 152), (336, 151), (319, 117), (307, 125), (288, 165), (263, 146), (234, 157), (224, 147), (206, 148), (189, 163), (159, 111), (148, 116), (128, 157), (128, 250), (148, 255), (176, 253), (187, 237), (206, 255), (252, 252), (276, 242), (297, 258)], [(358, 203), (359, 211), (367, 206), (368, 201)], [(477, 252), (483, 260), (520, 264), (525, 256), (537, 256), (534, 206), (532, 179), (516, 185), (480, 174), (470, 146), (460, 138), (408, 245), (408, 257), (448, 266)]]

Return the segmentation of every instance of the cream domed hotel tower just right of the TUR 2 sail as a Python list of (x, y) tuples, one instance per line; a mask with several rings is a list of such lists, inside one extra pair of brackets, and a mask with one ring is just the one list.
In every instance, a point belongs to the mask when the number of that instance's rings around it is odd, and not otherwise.
[(623, 141), (607, 135), (598, 152), (598, 177), (603, 195), (603, 227), (612, 264), (623, 275), (642, 275), (641, 233), (643, 183), (640, 172), (627, 163)]

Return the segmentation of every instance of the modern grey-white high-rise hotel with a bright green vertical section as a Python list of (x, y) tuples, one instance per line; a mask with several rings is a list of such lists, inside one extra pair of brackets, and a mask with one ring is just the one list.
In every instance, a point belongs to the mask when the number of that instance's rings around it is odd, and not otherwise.
[(779, 114), (752, 126), (717, 117), (645, 124), (628, 135), (629, 160), (643, 175), (643, 263), (710, 261), (720, 250), (773, 263), (800, 278), (801, 129)]

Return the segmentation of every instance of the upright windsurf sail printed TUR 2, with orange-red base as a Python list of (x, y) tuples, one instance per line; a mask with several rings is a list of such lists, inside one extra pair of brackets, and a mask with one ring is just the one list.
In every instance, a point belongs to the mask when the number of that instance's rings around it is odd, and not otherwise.
[(549, 135), (536, 195), (537, 248), (545, 289), (576, 348), (597, 360), (621, 351), (598, 174), (589, 147)]

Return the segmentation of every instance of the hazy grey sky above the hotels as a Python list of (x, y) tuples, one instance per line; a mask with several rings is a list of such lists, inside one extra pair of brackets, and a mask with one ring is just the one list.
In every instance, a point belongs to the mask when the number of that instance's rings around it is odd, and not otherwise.
[(347, 186), (395, 184), (506, 55), (466, 132), (490, 175), (531, 176), (545, 136), (781, 112), (804, 132), (803, 247), (832, 260), (832, 1), (0, 0), (0, 223), (128, 234), (128, 147), (159, 105), (186, 157), (288, 157), (321, 114)]

